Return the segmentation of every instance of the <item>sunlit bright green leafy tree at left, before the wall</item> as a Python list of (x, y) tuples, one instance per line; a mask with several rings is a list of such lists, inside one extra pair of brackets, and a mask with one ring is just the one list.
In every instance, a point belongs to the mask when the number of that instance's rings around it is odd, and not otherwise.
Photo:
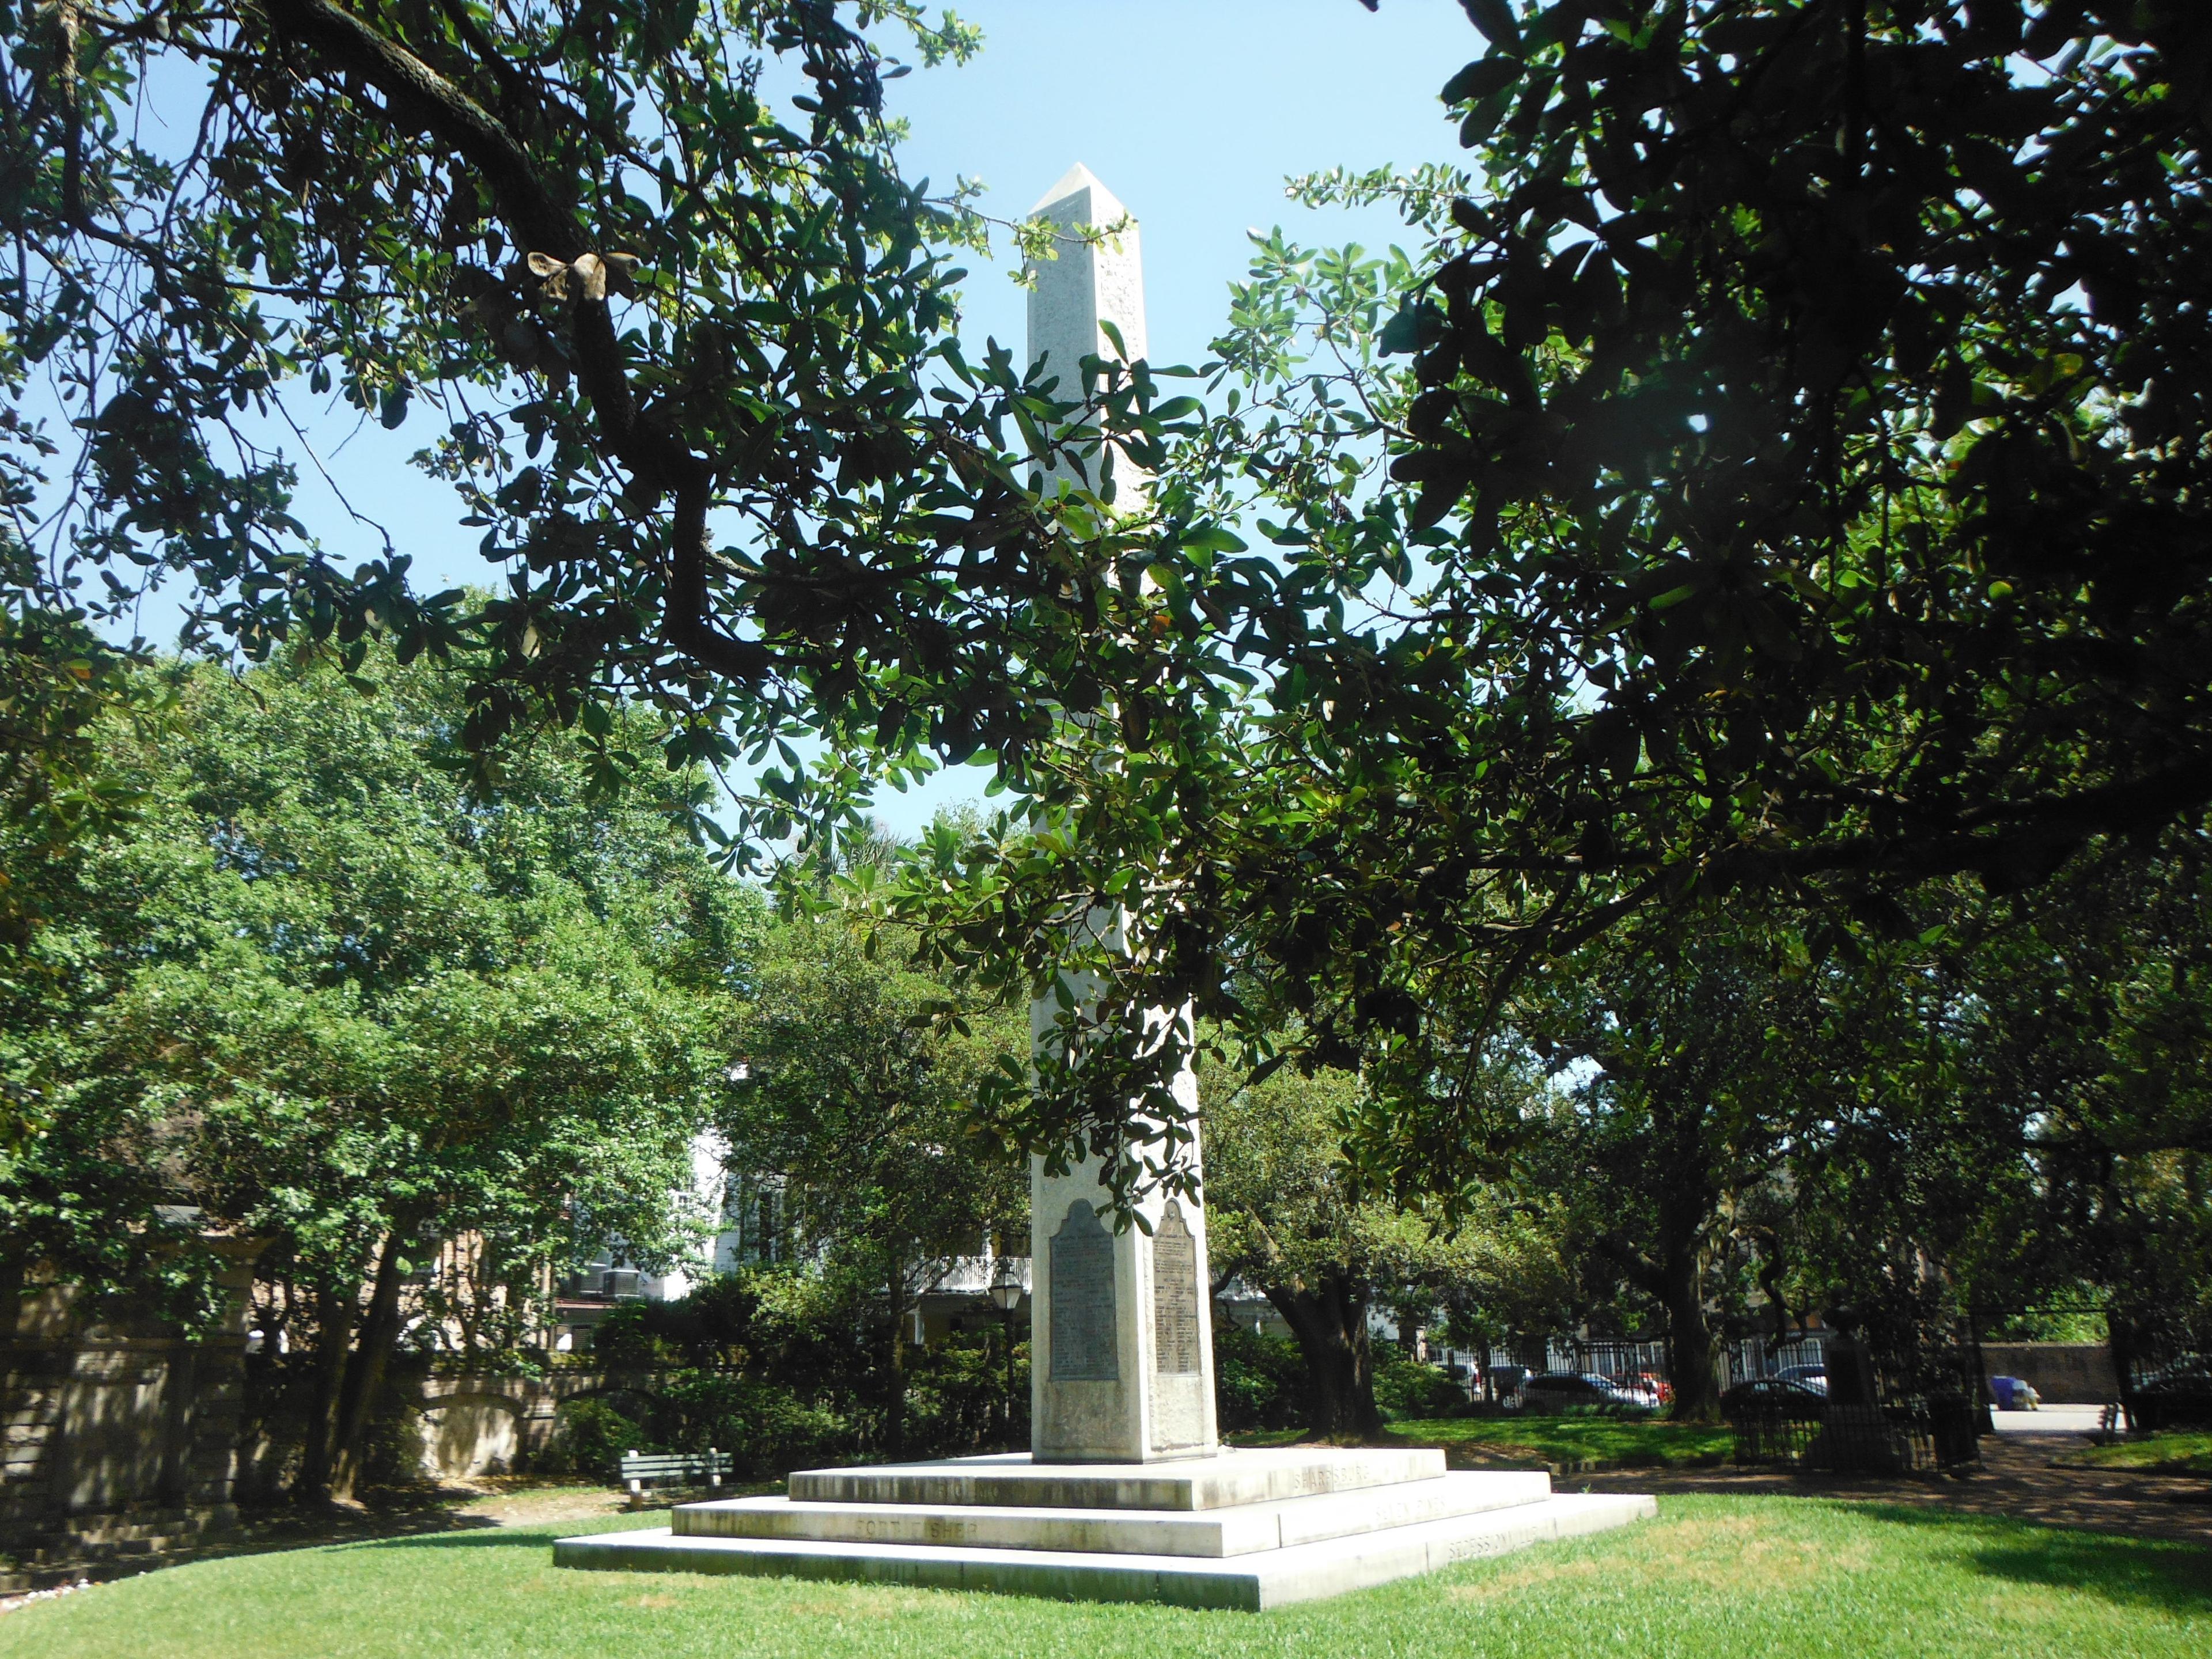
[(310, 1489), (358, 1473), (400, 1285), (440, 1245), (473, 1239), (476, 1305), (416, 1336), (467, 1352), (524, 1340), (593, 1248), (690, 1252), (708, 1217), (675, 1194), (761, 929), (670, 816), (697, 776), (611, 803), (540, 737), (480, 790), (458, 681), (365, 666), (374, 695), (316, 653), (148, 668), (175, 721), (93, 734), (139, 812), (46, 874), (42, 971), (0, 1004), (38, 1108), (0, 1159), (0, 1274), (192, 1327), (217, 1241), (250, 1239), (316, 1376)]

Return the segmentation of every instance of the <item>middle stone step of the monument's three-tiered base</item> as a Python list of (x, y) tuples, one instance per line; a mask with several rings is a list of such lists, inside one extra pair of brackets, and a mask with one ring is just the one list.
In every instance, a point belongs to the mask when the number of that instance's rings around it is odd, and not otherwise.
[(679, 1504), (677, 1537), (801, 1537), (821, 1544), (945, 1544), (1088, 1555), (1230, 1557), (1391, 1526), (1542, 1504), (1551, 1475), (1460, 1473), (1232, 1509), (995, 1509), (987, 1504), (812, 1504), (728, 1498)]

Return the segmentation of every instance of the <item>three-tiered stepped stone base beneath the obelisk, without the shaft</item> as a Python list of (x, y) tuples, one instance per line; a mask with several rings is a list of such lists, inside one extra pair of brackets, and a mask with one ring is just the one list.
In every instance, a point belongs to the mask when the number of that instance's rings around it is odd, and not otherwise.
[(1440, 1451), (1305, 1447), (1183, 1467), (810, 1469), (790, 1493), (564, 1537), (553, 1564), (1259, 1610), (1657, 1513), (1650, 1498), (1557, 1495), (1540, 1471), (1444, 1473)]

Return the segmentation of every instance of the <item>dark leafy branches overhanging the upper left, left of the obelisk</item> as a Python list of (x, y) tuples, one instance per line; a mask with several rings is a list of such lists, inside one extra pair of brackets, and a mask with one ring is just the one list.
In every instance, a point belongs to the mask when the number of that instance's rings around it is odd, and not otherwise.
[[(1115, 677), (1079, 661), (1097, 524), (1040, 522), (1000, 425), (1046, 449), (1051, 405), (960, 358), (975, 221), (898, 177), (883, 24), (975, 44), (907, 0), (0, 7), (11, 538), (115, 611), (179, 573), (248, 655), (462, 659), (478, 748), (644, 697), (672, 765), (799, 714), (1018, 750), (1022, 670)], [(270, 438), (303, 398), (420, 427), (507, 588), (336, 568), (294, 518), (312, 449)]]

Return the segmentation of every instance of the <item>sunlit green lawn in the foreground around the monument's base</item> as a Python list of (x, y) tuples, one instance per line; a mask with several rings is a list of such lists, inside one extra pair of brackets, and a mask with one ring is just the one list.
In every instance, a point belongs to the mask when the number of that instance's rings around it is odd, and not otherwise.
[[(611, 1524), (655, 1524), (630, 1515)], [(1657, 1522), (1279, 1613), (1066, 1606), (688, 1573), (555, 1571), (557, 1524), (148, 1573), (0, 1617), (27, 1659), (2201, 1659), (2212, 1559), (1809, 1498), (1670, 1498)]]

